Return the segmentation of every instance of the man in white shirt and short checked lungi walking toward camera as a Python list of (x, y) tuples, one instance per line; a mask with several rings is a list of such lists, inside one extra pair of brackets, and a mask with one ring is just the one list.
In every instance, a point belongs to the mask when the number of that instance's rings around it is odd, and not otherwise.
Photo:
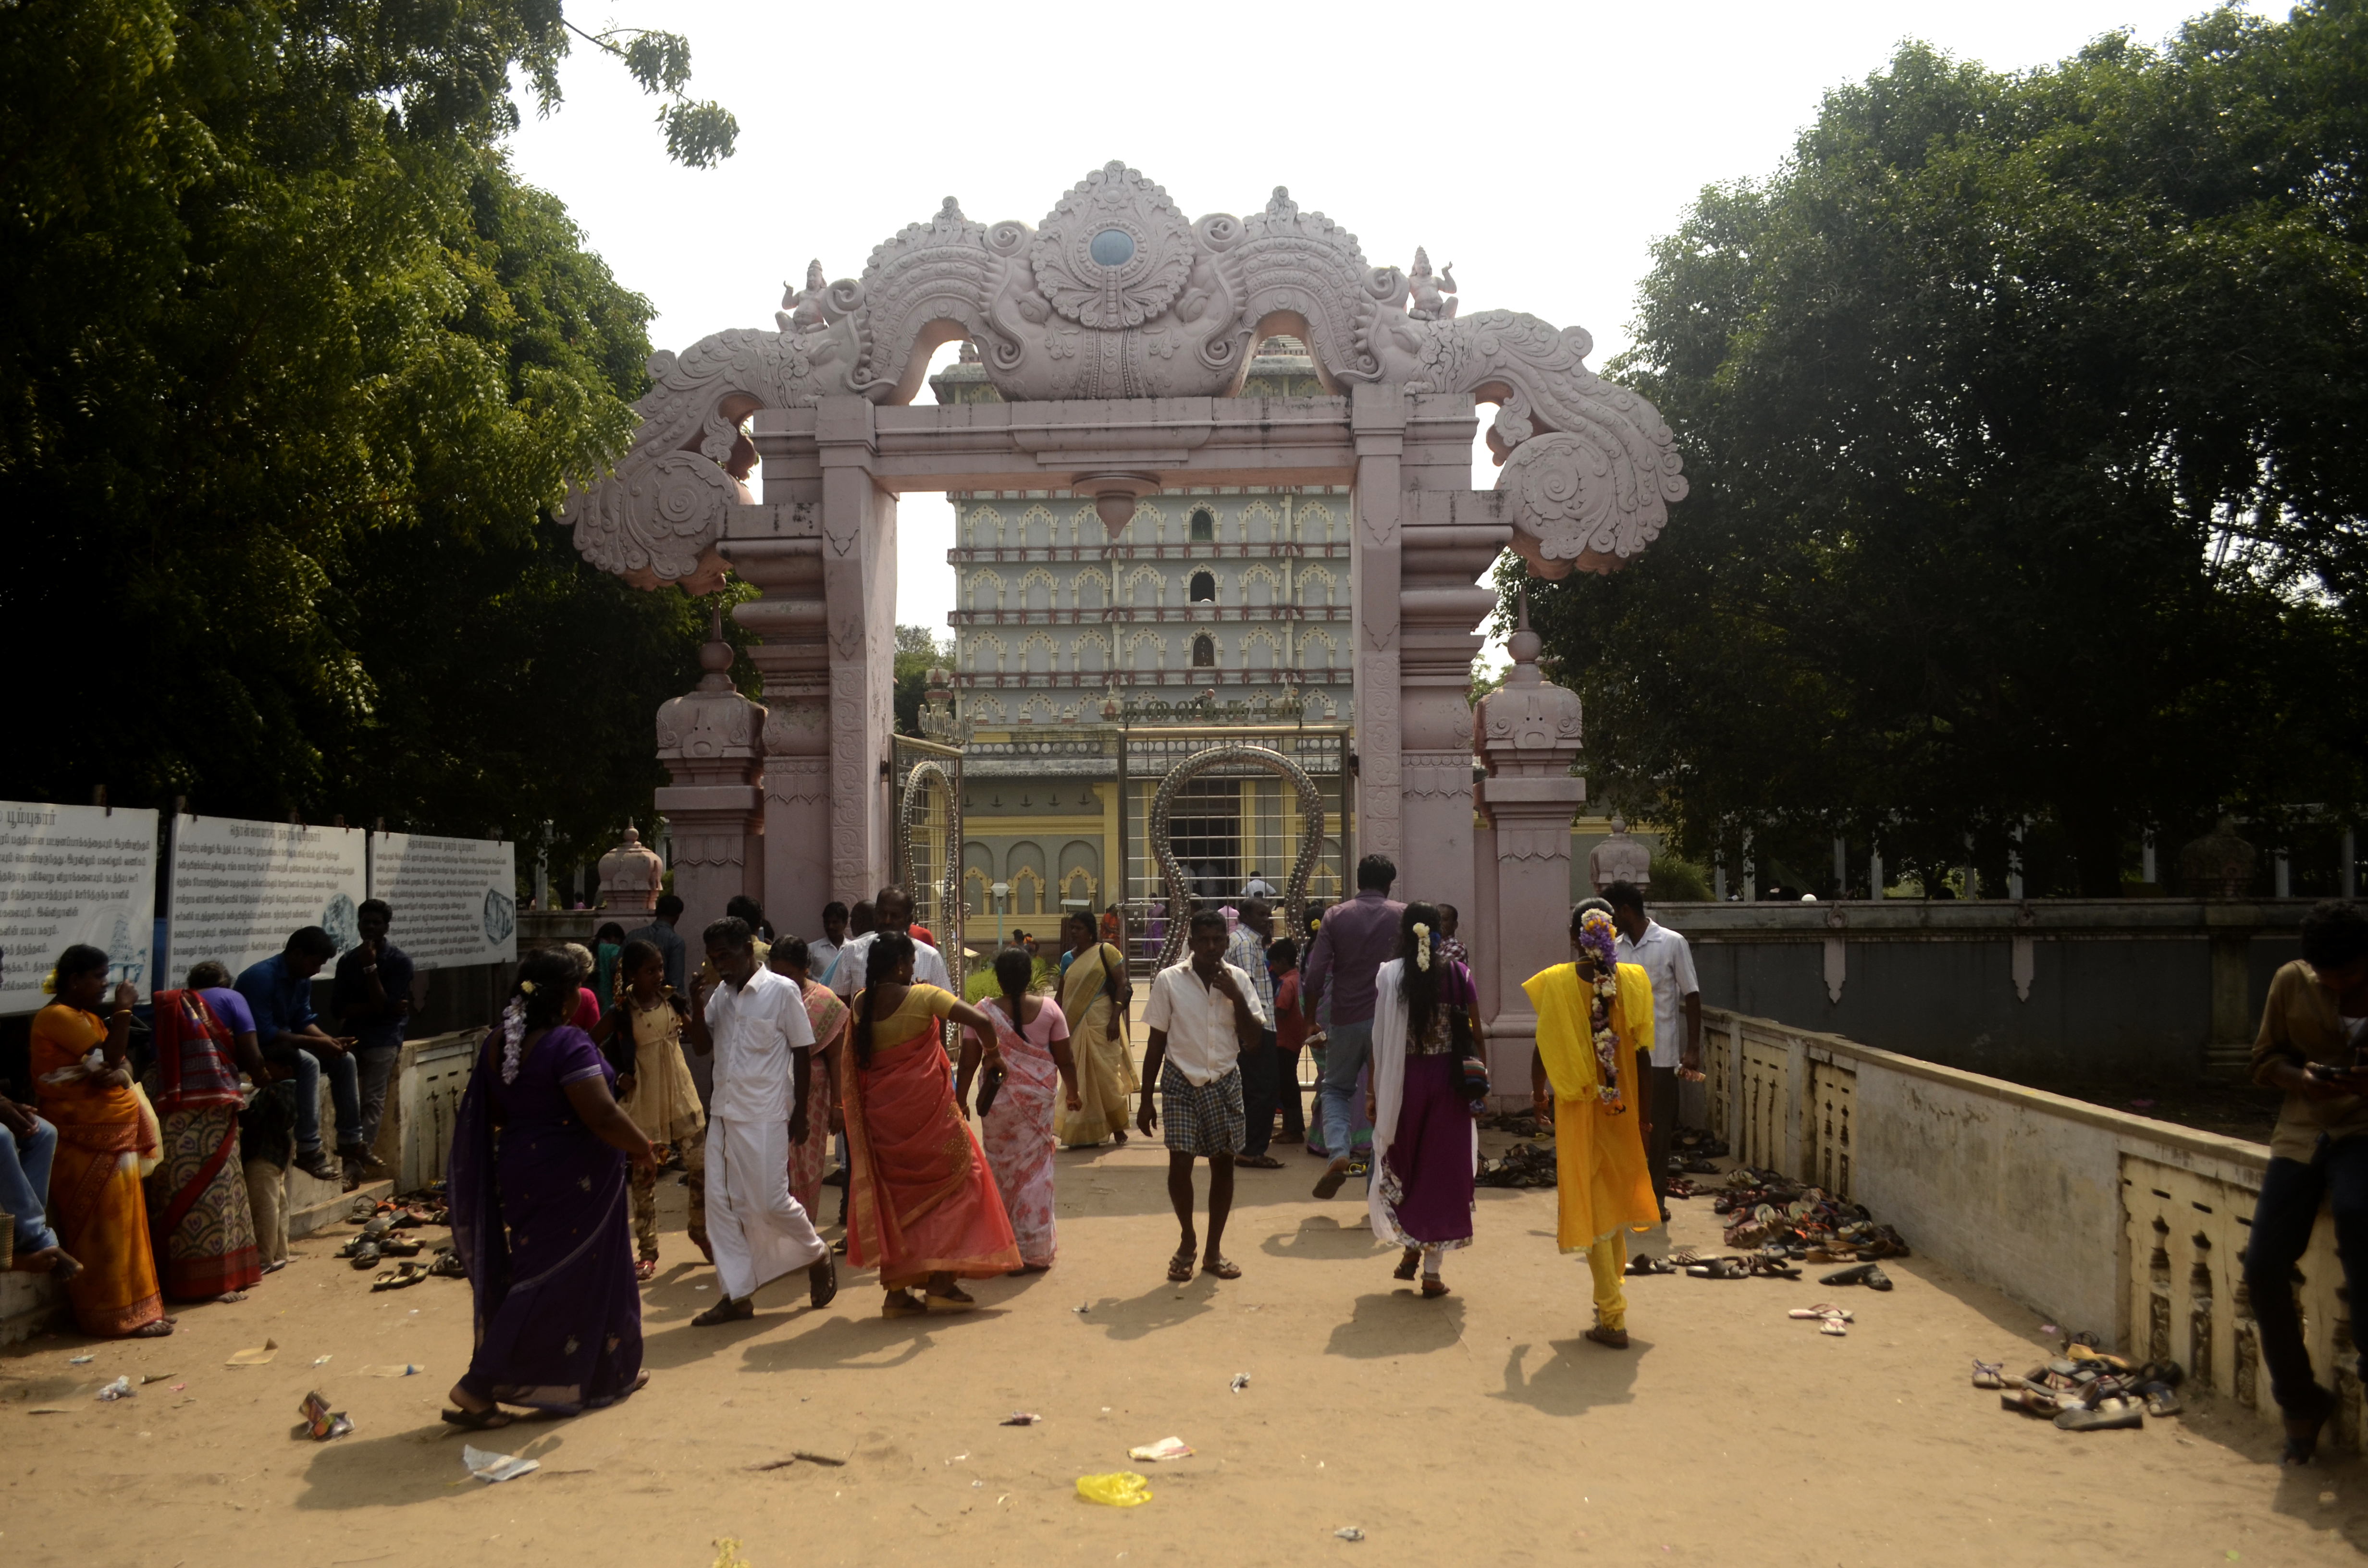
[(1160, 1111), (1151, 1104), (1153, 1085), (1167, 1116), (1167, 1199), (1177, 1208), (1184, 1244), (1167, 1260), (1167, 1279), (1191, 1279), (1198, 1241), (1191, 1227), (1191, 1163), (1208, 1161), (1208, 1251), (1201, 1270), (1217, 1279), (1241, 1279), (1241, 1267), (1224, 1255), (1224, 1217), (1234, 1208), (1234, 1153), (1241, 1149), (1241, 1052), (1255, 1047), (1274, 1026), (1272, 1011), (1257, 1011), (1257, 988), (1250, 976), (1224, 962), (1224, 917), (1203, 910), (1191, 917), (1191, 957), (1151, 978), (1151, 1004), (1144, 1026), (1151, 1045), (1144, 1049), (1144, 1106), (1134, 1125), (1144, 1137), (1158, 1132)]

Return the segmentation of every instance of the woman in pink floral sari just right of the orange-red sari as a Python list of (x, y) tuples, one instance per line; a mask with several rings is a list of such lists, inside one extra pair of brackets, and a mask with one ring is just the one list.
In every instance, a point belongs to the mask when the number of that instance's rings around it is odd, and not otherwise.
[(1021, 947), (1004, 947), (995, 955), (995, 978), (1004, 995), (987, 997), (978, 1007), (995, 1021), (995, 1042), (990, 1049), (976, 1030), (961, 1037), (961, 1082), (954, 1085), (954, 1101), (971, 1104), (971, 1078), (985, 1059), (987, 1080), (978, 1092), (980, 1142), (1021, 1246), (1018, 1272), (1028, 1274), (1049, 1270), (1058, 1251), (1051, 1227), (1054, 1085), (1070, 1111), (1085, 1101), (1077, 1097), (1077, 1063), (1068, 1054), (1068, 1018), (1051, 997), (1028, 995), (1032, 978), (1028, 955)]

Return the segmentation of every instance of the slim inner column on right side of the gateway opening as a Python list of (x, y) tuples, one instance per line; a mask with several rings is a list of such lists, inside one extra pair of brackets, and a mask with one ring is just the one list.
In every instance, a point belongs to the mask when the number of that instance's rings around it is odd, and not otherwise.
[[(1407, 848), (1399, 801), (1397, 533), (1404, 507), (1399, 457), (1407, 448), (1407, 393), (1359, 381), (1350, 391), (1357, 481), (1350, 531), (1357, 578), (1357, 848), (1397, 860)], [(1354, 879), (1354, 867), (1350, 879)], [(1399, 867), (1399, 898), (1418, 895)]]

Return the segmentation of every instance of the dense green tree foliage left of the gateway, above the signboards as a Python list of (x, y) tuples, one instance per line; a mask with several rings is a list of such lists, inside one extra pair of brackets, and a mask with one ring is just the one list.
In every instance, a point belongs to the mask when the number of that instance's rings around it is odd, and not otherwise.
[[(646, 822), (706, 613), (549, 521), (649, 353), (649, 303), (500, 152), (511, 71), (549, 109), (566, 43), (547, 0), (14, 9), (0, 625), (43, 734), (0, 793)], [(677, 156), (729, 152), (680, 40), (616, 47), (689, 111)]]

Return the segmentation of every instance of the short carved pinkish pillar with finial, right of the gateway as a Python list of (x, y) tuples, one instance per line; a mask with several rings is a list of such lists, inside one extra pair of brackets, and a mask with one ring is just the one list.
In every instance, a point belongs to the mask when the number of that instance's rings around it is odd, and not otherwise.
[[(1482, 1018), (1489, 1080), (1501, 1104), (1527, 1097), (1537, 1011), (1520, 983), (1570, 957), (1570, 820), (1587, 801), (1579, 758), (1579, 696), (1546, 685), (1537, 670), (1539, 637), (1530, 597), (1506, 649), (1513, 668), (1504, 689), (1480, 699), (1473, 741), (1487, 767), (1480, 810), (1497, 850), (1492, 919), (1480, 924), (1473, 955), (1494, 971), (1497, 1009)], [(1485, 881), (1485, 879), (1482, 879)], [(1487, 988), (1482, 988), (1482, 997)]]

